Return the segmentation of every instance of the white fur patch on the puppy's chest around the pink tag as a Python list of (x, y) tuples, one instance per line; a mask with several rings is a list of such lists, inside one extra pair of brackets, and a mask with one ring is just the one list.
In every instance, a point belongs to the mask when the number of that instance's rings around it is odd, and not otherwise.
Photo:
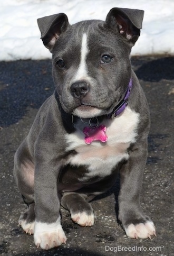
[(107, 142), (93, 141), (91, 144), (84, 141), (82, 126), (85, 125), (76, 124), (76, 132), (66, 135), (69, 145), (66, 151), (76, 151), (68, 163), (72, 166), (86, 166), (88, 176), (110, 175), (121, 160), (129, 158), (127, 149), (136, 141), (138, 123), (139, 114), (127, 107), (119, 117), (102, 123), (107, 127)]

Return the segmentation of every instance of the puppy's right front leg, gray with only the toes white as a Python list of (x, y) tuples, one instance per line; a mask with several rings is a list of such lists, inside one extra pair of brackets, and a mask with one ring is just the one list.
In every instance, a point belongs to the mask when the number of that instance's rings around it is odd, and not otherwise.
[(147, 160), (147, 141), (134, 145), (130, 158), (120, 170), (119, 220), (125, 233), (131, 238), (151, 238), (156, 230), (150, 218), (143, 214), (140, 207), (142, 176)]

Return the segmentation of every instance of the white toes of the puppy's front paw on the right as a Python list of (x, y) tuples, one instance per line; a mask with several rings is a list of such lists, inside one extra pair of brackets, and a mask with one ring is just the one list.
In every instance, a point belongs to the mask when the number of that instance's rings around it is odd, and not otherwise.
[(156, 236), (156, 230), (152, 221), (148, 221), (146, 223), (139, 223), (137, 225), (130, 224), (127, 228), (125, 228), (125, 233), (127, 236), (131, 238), (150, 238), (151, 235)]

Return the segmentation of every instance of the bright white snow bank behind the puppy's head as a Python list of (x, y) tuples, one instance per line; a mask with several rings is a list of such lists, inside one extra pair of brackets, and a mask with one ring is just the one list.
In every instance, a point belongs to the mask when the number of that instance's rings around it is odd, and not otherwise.
[(113, 7), (144, 10), (141, 36), (131, 55), (174, 54), (173, 0), (1, 0), (0, 61), (47, 59), (37, 18), (66, 13), (71, 24), (82, 20), (105, 20)]

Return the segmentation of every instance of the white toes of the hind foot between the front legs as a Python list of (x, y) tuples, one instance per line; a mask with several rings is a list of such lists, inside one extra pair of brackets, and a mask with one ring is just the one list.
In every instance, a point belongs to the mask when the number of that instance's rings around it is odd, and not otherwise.
[(94, 225), (94, 214), (88, 215), (85, 212), (82, 213), (76, 213), (76, 214), (71, 214), (71, 218), (75, 223), (78, 223), (80, 226), (92, 226)]

